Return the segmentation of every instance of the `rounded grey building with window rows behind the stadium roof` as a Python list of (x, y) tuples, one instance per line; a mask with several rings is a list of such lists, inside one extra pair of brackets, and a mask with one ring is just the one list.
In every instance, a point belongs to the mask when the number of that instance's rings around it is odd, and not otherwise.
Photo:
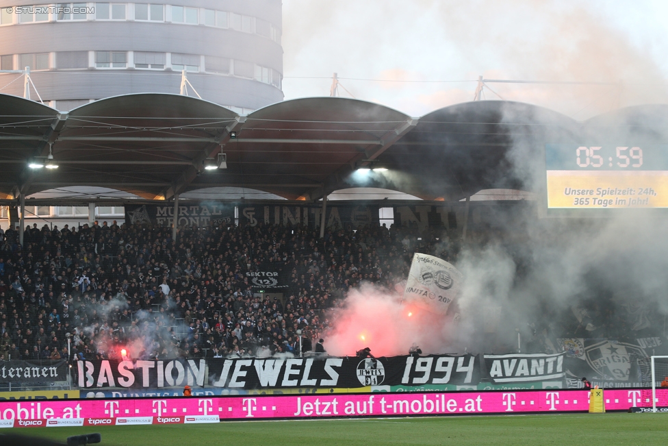
[[(246, 114), (283, 100), (281, 18), (280, 0), (0, 0), (0, 70), (29, 66), (44, 103), (61, 111), (178, 94), (185, 71), (202, 99)], [(23, 96), (19, 76), (0, 73), (0, 92)]]

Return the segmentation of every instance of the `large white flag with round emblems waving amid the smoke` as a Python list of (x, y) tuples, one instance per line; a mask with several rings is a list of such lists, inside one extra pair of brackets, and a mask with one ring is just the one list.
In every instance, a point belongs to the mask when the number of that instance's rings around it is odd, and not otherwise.
[(415, 253), (404, 289), (404, 301), (418, 308), (446, 314), (459, 297), (463, 276), (445, 260)]

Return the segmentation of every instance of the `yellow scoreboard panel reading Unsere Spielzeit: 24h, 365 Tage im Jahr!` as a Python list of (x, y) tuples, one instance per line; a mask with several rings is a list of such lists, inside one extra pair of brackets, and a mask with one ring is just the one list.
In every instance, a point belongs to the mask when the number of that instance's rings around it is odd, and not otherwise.
[(548, 208), (668, 208), (668, 171), (548, 171)]

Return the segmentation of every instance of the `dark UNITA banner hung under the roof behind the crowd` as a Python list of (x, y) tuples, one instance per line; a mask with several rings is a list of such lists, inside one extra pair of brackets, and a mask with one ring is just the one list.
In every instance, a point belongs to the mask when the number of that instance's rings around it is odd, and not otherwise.
[[(306, 225), (320, 227), (321, 206), (240, 206), (239, 224)], [(325, 226), (357, 229), (363, 225), (378, 225), (378, 206), (327, 206)]]

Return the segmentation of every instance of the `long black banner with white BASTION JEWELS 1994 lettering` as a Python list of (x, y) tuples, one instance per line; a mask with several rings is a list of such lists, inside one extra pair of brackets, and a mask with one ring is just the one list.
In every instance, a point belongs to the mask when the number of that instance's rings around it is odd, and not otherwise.
[[(170, 361), (79, 361), (80, 388), (214, 386), (259, 389), (357, 388), (381, 384), (478, 384), (478, 356), (391, 358), (238, 358)], [(207, 371), (208, 370), (208, 375)]]

